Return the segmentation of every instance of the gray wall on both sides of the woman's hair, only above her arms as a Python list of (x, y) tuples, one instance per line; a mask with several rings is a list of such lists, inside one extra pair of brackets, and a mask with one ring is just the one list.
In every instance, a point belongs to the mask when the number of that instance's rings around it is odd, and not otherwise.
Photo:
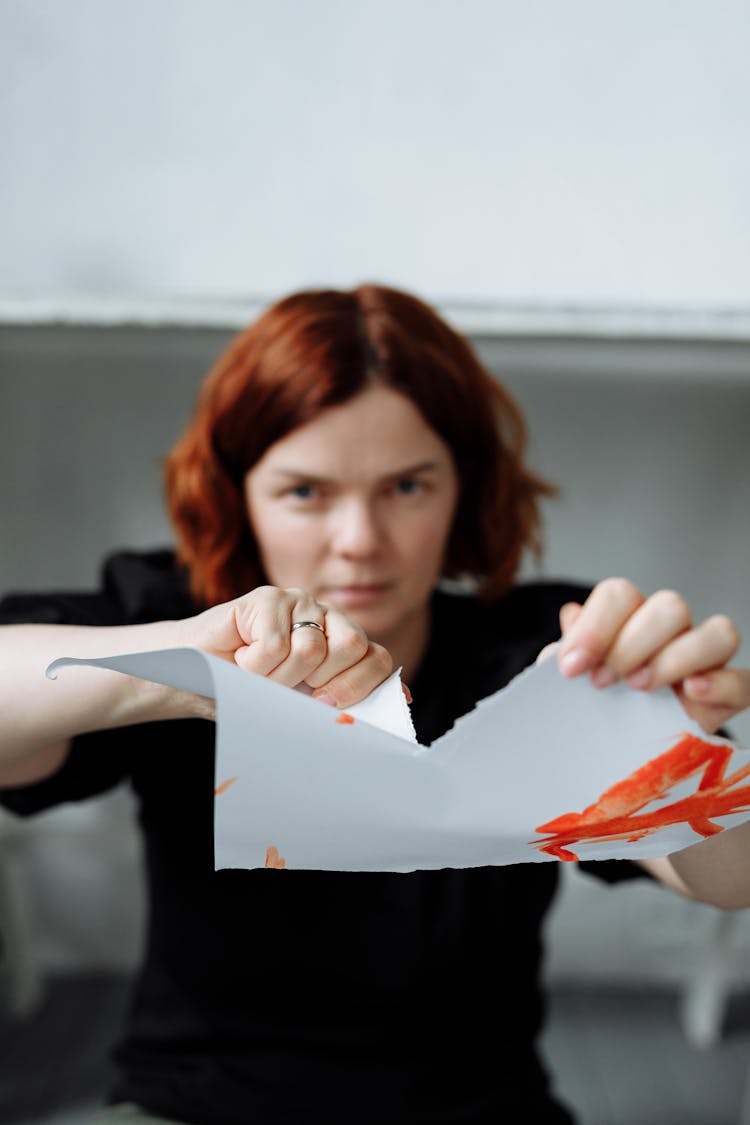
[[(87, 586), (107, 551), (170, 540), (161, 458), (228, 339), (0, 328), (0, 590)], [(674, 586), (750, 640), (750, 345), (477, 344), (526, 411), (532, 462), (562, 489), (541, 573)]]

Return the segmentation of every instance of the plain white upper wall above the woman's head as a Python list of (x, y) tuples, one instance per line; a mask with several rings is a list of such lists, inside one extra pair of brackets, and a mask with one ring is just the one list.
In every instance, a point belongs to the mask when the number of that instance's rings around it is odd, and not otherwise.
[(750, 300), (743, 0), (4, 0), (0, 297)]

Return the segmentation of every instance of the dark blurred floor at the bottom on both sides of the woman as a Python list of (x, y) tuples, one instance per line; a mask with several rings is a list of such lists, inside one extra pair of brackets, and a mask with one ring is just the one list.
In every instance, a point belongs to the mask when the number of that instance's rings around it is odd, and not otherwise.
[[(126, 993), (120, 976), (62, 976), (34, 1020), (0, 1017), (3, 1125), (84, 1125), (107, 1083), (107, 1044)], [(696, 1051), (674, 992), (555, 989), (544, 1048), (580, 1125), (750, 1123), (748, 994), (733, 998), (719, 1046)]]

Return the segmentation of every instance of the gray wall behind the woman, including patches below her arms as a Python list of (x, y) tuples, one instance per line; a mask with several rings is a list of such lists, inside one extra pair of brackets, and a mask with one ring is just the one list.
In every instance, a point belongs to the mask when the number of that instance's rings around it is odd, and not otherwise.
[[(228, 336), (0, 330), (0, 592), (89, 586), (107, 551), (169, 541), (160, 459)], [(750, 638), (750, 345), (476, 342), (528, 415), (533, 464), (562, 487), (546, 506), (542, 573), (674, 585), (698, 615), (730, 612)], [(735, 730), (750, 746), (748, 720)], [(39, 968), (134, 963), (143, 899), (125, 793), (24, 825), (0, 816), (0, 927), (26, 957), (21, 991)], [(553, 915), (554, 979), (679, 984), (714, 947), (707, 908), (589, 883), (571, 875)], [(743, 984), (748, 925), (721, 953)]]

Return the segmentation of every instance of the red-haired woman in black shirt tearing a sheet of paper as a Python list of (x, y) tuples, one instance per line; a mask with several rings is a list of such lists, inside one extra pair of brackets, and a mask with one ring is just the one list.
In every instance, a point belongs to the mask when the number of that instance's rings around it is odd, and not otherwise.
[[(102, 1122), (571, 1119), (534, 1052), (555, 864), (214, 872), (210, 704), (100, 669), (40, 675), (62, 654), (191, 645), (345, 708), (395, 664), (430, 742), (561, 626), (566, 675), (672, 684), (708, 730), (748, 705), (726, 619), (693, 627), (678, 595), (620, 578), (513, 585), (551, 490), (523, 453), (507, 392), (425, 305), (298, 294), (219, 359), (169, 459), (177, 559), (117, 556), (99, 593), (6, 600), (24, 623), (0, 648), (4, 802), (30, 813), (124, 777), (139, 800), (148, 933)], [(478, 594), (435, 593), (441, 576)], [(654, 866), (687, 893), (725, 870), (723, 853), (680, 863), (690, 885)], [(726, 893), (747, 894), (740, 875)]]

